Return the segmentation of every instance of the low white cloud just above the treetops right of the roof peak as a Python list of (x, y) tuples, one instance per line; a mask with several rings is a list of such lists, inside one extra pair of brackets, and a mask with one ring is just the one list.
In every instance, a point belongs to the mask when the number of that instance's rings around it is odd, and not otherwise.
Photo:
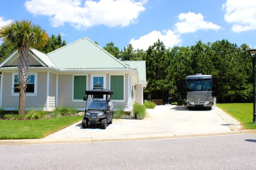
[(152, 31), (147, 35), (141, 36), (139, 39), (131, 39), (129, 43), (133, 45), (134, 49), (147, 50), (149, 46), (154, 45), (158, 39), (162, 41), (166, 48), (172, 48), (173, 46), (180, 46), (182, 39), (179, 35), (175, 35), (172, 30), (164, 31), (162, 34), (160, 31)]

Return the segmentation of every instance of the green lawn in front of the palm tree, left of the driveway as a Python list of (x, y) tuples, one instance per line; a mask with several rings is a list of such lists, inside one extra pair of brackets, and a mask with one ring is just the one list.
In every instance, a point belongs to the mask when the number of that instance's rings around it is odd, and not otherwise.
[(43, 120), (0, 120), (0, 139), (39, 139), (82, 120), (82, 116)]

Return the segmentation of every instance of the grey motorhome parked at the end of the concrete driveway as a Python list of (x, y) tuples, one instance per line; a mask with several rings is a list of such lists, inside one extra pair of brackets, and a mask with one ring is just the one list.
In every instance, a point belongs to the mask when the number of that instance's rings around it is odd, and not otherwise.
[(186, 98), (187, 107), (189, 110), (192, 107), (207, 107), (209, 110), (213, 106), (213, 97), (216, 96), (217, 78), (212, 78), (211, 75), (196, 74), (186, 77), (186, 80), (181, 80), (182, 83), (182, 98)]

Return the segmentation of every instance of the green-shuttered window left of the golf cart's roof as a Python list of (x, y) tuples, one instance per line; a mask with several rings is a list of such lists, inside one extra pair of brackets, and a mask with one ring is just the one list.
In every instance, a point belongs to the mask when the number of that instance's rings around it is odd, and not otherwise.
[(86, 90), (86, 76), (74, 76), (74, 100), (83, 100)]

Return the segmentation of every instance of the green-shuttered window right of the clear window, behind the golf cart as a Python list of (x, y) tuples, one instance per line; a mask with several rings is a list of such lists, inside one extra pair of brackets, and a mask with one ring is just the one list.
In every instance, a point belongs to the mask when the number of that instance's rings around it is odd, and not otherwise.
[(123, 75), (118, 76), (110, 76), (110, 90), (114, 92), (111, 95), (111, 100), (124, 100), (123, 97)]

